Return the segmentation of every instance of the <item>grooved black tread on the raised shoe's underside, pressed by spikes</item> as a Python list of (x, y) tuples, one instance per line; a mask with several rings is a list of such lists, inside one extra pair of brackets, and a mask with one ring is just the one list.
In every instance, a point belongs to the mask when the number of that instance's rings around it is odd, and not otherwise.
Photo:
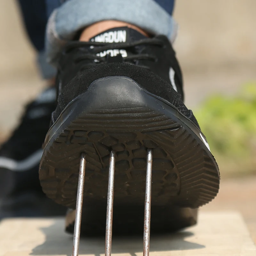
[(85, 201), (106, 201), (111, 150), (116, 151), (115, 204), (144, 204), (147, 148), (153, 149), (152, 205), (196, 208), (219, 190), (215, 163), (192, 134), (148, 108), (95, 110), (72, 120), (50, 143), (41, 161), (41, 185), (68, 207), (76, 205), (81, 152), (86, 153)]

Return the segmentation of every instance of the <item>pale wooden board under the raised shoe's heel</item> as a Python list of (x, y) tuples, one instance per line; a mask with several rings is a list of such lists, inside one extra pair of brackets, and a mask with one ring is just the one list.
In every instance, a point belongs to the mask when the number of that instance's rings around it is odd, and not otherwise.
[[(71, 256), (64, 219), (9, 219), (0, 223), (0, 256)], [(112, 255), (142, 256), (142, 236), (113, 238)], [(102, 238), (82, 239), (80, 256), (104, 255)], [(151, 236), (151, 256), (255, 256), (244, 220), (237, 212), (201, 212), (199, 223), (179, 233)]]

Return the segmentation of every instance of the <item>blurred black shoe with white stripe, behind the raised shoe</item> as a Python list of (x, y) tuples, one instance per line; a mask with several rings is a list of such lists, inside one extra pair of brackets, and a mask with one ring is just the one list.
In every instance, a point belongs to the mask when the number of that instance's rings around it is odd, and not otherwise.
[(42, 143), (55, 108), (56, 89), (47, 88), (26, 106), (20, 124), (0, 148), (0, 220), (66, 212), (44, 195), (38, 178)]

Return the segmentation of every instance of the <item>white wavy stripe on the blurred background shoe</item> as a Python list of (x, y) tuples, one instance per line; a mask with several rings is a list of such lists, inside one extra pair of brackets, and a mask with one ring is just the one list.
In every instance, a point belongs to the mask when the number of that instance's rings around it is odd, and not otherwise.
[(10, 169), (14, 172), (24, 172), (34, 167), (36, 164), (39, 164), (42, 154), (43, 149), (38, 149), (32, 155), (21, 161), (16, 161), (12, 158), (0, 156), (0, 168)]

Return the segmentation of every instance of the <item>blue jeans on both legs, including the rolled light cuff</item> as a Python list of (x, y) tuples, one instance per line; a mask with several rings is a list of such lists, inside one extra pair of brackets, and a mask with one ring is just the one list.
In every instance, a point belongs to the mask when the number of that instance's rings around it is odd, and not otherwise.
[[(177, 32), (172, 19), (174, 0), (19, 0), (28, 35), (38, 50), (38, 63), (44, 78), (55, 70), (62, 46), (77, 31), (101, 20), (120, 20), (151, 34), (163, 34), (174, 41)], [(44, 35), (46, 22), (47, 33)], [(45, 50), (46, 49), (46, 50)], [(46, 53), (45, 53), (46, 52)]]

